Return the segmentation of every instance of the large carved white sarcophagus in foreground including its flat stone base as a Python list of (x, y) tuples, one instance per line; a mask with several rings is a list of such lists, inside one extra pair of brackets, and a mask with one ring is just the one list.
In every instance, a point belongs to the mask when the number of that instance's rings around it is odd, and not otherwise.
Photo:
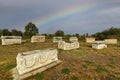
[(33, 76), (61, 62), (58, 60), (58, 51), (56, 49), (18, 53), (16, 60), (17, 66), (13, 69), (14, 80)]

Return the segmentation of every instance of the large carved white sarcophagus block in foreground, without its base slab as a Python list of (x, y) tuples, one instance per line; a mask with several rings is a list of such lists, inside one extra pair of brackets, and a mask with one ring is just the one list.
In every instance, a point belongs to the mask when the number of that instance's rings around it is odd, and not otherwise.
[(58, 60), (56, 49), (34, 50), (18, 53), (17, 70), (20, 75), (44, 67)]

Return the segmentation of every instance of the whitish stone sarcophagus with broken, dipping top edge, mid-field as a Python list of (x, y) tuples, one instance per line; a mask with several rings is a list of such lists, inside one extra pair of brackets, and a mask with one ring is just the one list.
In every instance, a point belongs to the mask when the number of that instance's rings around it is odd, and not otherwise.
[(79, 42), (66, 43), (65, 41), (59, 41), (58, 48), (63, 50), (77, 49), (79, 48)]

